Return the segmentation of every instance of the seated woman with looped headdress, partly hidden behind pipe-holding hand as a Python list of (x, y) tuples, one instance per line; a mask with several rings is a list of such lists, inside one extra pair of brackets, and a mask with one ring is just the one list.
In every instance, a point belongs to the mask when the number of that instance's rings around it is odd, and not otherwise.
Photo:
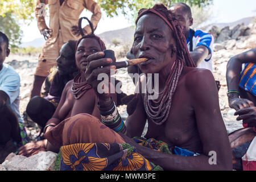
[[(82, 34), (84, 35), (84, 34)], [(97, 118), (101, 115), (97, 109), (97, 97), (92, 87), (86, 82), (84, 72), (88, 65), (87, 57), (93, 53), (104, 51), (106, 49), (104, 42), (96, 35), (84, 35), (77, 42), (76, 47), (76, 66), (79, 73), (69, 81), (63, 93), (61, 94), (59, 105), (52, 117), (47, 121), (44, 127), (44, 133), (52, 127), (59, 125), (61, 121), (80, 113), (88, 113)], [(116, 94), (112, 98), (116, 101)], [(57, 135), (57, 133), (56, 133)], [(40, 150), (46, 150), (47, 140), (30, 142), (19, 148), (19, 155), (30, 156), (38, 153)], [(59, 151), (59, 148), (53, 149)]]

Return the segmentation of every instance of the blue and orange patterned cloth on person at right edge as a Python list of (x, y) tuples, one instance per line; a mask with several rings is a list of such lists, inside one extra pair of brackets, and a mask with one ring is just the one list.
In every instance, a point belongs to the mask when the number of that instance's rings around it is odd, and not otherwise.
[(246, 63), (241, 73), (239, 87), (256, 96), (256, 64)]

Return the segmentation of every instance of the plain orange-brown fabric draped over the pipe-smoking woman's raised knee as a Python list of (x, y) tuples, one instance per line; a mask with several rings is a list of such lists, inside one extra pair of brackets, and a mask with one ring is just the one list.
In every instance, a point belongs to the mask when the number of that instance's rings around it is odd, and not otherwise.
[(125, 143), (123, 138), (90, 114), (77, 114), (65, 119), (45, 134), (53, 146), (75, 143)]

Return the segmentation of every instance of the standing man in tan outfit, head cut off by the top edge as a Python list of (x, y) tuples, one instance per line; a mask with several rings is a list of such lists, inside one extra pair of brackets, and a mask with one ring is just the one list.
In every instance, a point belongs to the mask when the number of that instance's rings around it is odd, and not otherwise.
[[(49, 5), (49, 27), (44, 19), (47, 4)], [(38, 28), (46, 39), (46, 43), (39, 55), (30, 98), (40, 95), (42, 84), (49, 75), (50, 69), (56, 66), (56, 58), (59, 57), (61, 46), (68, 40), (81, 38), (77, 25), (84, 9), (92, 12), (90, 21), (95, 29), (101, 19), (101, 10), (93, 0), (38, 0), (36, 2)], [(90, 26), (85, 26), (83, 31), (85, 35), (90, 34)]]

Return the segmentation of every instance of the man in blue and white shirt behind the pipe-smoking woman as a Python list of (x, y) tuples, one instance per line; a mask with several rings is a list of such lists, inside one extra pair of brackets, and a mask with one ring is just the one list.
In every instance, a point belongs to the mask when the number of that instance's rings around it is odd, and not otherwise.
[[(175, 18), (184, 27), (184, 35), (187, 39), (189, 54), (197, 68), (209, 69), (212, 72), (212, 54), (214, 38), (211, 34), (201, 30), (194, 31), (191, 8), (183, 3), (175, 3), (169, 9)], [(127, 54), (127, 59), (134, 59), (132, 52)], [(137, 65), (128, 67), (128, 73), (137, 73)]]

